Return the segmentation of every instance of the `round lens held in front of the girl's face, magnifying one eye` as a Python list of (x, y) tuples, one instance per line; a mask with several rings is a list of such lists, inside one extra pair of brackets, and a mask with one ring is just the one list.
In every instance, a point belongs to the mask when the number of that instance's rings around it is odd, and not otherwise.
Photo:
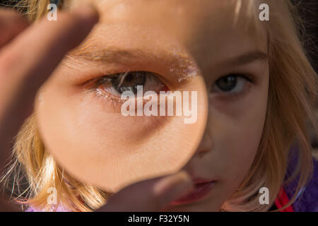
[[(143, 7), (141, 10), (147, 9)], [(102, 24), (105, 18), (100, 20)], [(129, 40), (129, 45), (125, 46), (127, 49), (139, 47), (155, 52), (156, 46), (175, 41), (173, 38), (170, 40), (171, 32), (160, 27), (163, 25), (162, 20), (153, 18), (151, 21), (147, 17), (130, 22), (131, 25), (123, 24), (122, 32), (115, 34), (117, 30), (112, 25), (112, 18), (106, 19), (105, 24), (110, 27), (104, 28), (106, 31), (102, 40), (105, 40), (105, 44), (100, 44), (100, 48), (106, 48), (107, 43), (123, 46)], [(160, 25), (155, 29), (157, 23)], [(98, 37), (94, 33), (102, 29), (98, 26), (86, 40), (87, 43), (90, 38)], [(147, 26), (152, 30), (148, 32)], [(146, 32), (145, 35), (141, 35), (142, 32)], [(117, 35), (116, 40), (114, 35)], [(81, 49), (78, 51), (92, 50), (85, 43)], [(109, 59), (117, 62), (114, 73), (96, 75), (95, 80), (91, 79), (85, 83), (86, 86), (83, 85), (83, 89), (87, 90), (83, 92), (75, 86), (70, 88), (67, 85), (68, 78), (81, 73), (93, 76), (94, 71), (98, 71), (97, 67), (90, 63), (76, 70), (62, 64), (41, 89), (41, 101), (36, 103), (41, 138), (47, 152), (54, 156), (71, 177), (105, 191), (117, 192), (124, 186), (144, 179), (175, 173), (195, 154), (206, 127), (206, 83), (191, 57), (185, 53), (177, 54), (177, 50), (172, 51), (172, 47), (164, 47), (163, 50), (157, 51), (158, 54), (165, 52), (162, 61), (151, 57), (137, 61), (136, 57), (127, 60), (125, 57), (129, 53), (115, 52), (114, 49), (105, 52), (93, 49), (93, 54), (104, 54), (103, 59), (109, 57), (109, 54), (114, 55)], [(79, 54), (83, 55), (83, 52)], [(74, 59), (79, 60), (76, 57)], [(110, 71), (112, 64), (107, 65), (105, 71)], [(129, 65), (126, 68), (130, 69), (119, 70), (124, 65)], [(146, 74), (145, 77), (143, 73), (151, 73), (152, 76)], [(161, 74), (162, 83), (169, 84), (167, 89), (154, 90), (158, 86), (153, 85), (158, 84), (153, 78), (155, 73)], [(148, 83), (143, 84), (145, 78), (148, 78)], [(87, 88), (92, 83), (95, 86)], [(135, 83), (143, 84), (141, 92), (138, 92), (138, 85), (136, 90), (129, 90)], [(96, 84), (102, 87), (100, 93)], [(121, 85), (120, 93), (128, 93), (124, 99), (114, 100), (112, 94), (118, 93)], [(92, 87), (94, 92), (91, 92)], [(105, 89), (108, 90), (107, 95)], [(129, 91), (136, 92), (129, 95)]]

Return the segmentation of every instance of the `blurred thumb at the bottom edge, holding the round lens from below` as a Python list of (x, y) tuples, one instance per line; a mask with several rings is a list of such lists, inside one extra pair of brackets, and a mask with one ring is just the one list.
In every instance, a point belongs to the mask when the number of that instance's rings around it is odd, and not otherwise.
[(186, 172), (150, 179), (122, 189), (98, 211), (160, 211), (193, 187), (192, 179)]

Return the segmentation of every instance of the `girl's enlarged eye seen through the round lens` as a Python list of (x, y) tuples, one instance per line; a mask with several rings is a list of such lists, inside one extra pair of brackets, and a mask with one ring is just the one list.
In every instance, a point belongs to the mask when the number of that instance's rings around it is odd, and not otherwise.
[(116, 73), (110, 76), (103, 76), (98, 78), (95, 82), (95, 88), (100, 91), (120, 97), (125, 91), (131, 91), (136, 95), (138, 86), (142, 85), (143, 93), (147, 91), (154, 91), (159, 93), (160, 91), (167, 90), (165, 84), (163, 84), (158, 75), (148, 71), (128, 71), (125, 73)]

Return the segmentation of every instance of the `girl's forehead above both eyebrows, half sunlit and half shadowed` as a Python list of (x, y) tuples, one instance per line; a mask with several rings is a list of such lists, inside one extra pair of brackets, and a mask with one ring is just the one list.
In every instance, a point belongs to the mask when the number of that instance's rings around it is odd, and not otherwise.
[[(222, 54), (235, 55), (235, 51), (266, 52), (265, 29), (255, 29), (254, 23), (247, 23), (254, 22), (254, 18), (247, 16), (256, 10), (246, 4), (252, 1), (70, 0), (66, 7), (73, 8), (85, 1), (92, 2), (100, 11), (100, 23), (86, 43), (95, 47), (95, 52), (101, 45), (120, 51), (129, 48), (179, 55), (187, 49), (201, 64), (216, 56), (222, 58)], [(261, 40), (257, 38), (259, 30), (263, 31)]]

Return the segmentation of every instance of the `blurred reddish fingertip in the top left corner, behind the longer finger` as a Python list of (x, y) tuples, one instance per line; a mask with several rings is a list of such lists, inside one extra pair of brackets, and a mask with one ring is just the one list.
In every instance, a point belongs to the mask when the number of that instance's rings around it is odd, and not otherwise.
[(13, 40), (28, 25), (28, 20), (20, 14), (7, 9), (0, 9), (0, 47)]

